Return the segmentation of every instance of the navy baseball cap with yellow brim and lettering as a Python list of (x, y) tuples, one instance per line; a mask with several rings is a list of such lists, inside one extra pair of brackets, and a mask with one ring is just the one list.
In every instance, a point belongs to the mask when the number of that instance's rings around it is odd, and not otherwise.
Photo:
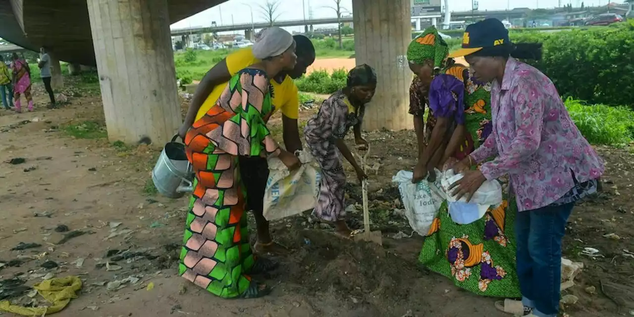
[(462, 48), (450, 53), (449, 57), (471, 55), (483, 48), (510, 44), (508, 30), (496, 18), (488, 18), (467, 26), (462, 36)]

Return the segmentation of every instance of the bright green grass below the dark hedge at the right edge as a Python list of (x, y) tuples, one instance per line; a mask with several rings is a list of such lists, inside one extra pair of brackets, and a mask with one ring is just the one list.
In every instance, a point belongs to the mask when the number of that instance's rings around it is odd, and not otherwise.
[(634, 139), (634, 112), (629, 108), (585, 105), (573, 98), (565, 103), (574, 124), (591, 144), (622, 147)]

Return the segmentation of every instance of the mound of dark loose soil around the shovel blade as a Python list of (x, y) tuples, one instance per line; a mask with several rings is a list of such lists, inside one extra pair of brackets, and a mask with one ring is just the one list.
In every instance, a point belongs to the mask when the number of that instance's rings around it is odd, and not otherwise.
[(420, 278), (417, 264), (403, 261), (374, 243), (344, 240), (327, 231), (290, 231), (282, 237), (294, 253), (286, 259), (289, 283), (310, 294), (335, 293), (366, 302), (373, 311), (389, 314), (385, 302), (406, 300), (412, 279)]

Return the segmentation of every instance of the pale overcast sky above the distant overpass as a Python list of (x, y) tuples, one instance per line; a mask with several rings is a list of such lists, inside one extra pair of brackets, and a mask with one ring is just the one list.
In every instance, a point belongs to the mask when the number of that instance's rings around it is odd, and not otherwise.
[[(444, 0), (441, 0), (444, 3)], [(509, 8), (555, 8), (561, 3), (572, 3), (578, 6), (581, 2), (586, 6), (605, 5), (609, 2), (622, 3), (622, 0), (479, 0), (480, 10), (505, 10)], [(306, 4), (306, 18), (308, 18), (309, 3), (313, 9), (313, 18), (329, 18), (336, 16), (335, 11), (323, 6), (332, 6), (334, 0), (303, 0)], [(253, 7), (253, 20), (255, 22), (263, 22), (265, 20), (258, 4), (266, 3), (266, 0), (230, 0), (226, 3), (216, 6), (209, 10), (202, 11), (197, 15), (190, 16), (179, 22), (172, 24), (172, 29), (181, 29), (184, 27), (209, 26), (212, 21), (217, 24), (231, 25), (233, 23), (250, 23), (251, 15), (249, 7), (245, 3), (251, 3)], [(347, 10), (352, 10), (352, 0), (342, 0), (342, 6)], [(449, 6), (451, 11), (468, 11), (471, 10), (471, 1), (469, 0), (450, 0)], [(219, 8), (220, 7), (220, 8)], [(222, 11), (222, 16), (221, 16)], [(279, 8), (280, 18), (278, 20), (299, 20), (303, 18), (302, 0), (280, 0)], [(302, 27), (286, 28), (288, 30), (302, 30)]]

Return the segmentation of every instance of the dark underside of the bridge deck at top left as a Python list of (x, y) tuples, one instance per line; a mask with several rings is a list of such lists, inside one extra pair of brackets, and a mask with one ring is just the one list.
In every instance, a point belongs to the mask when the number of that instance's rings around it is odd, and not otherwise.
[[(167, 0), (169, 21), (166, 23), (178, 22), (226, 1)], [(48, 46), (59, 60), (94, 66), (96, 60), (87, 2), (103, 3), (101, 0), (1, 1), (0, 37), (33, 51)], [(111, 10), (117, 8), (120, 6), (111, 6)], [(111, 13), (115, 15), (115, 12)], [(141, 16), (138, 18), (141, 20)], [(139, 25), (141, 23), (139, 21)]]

